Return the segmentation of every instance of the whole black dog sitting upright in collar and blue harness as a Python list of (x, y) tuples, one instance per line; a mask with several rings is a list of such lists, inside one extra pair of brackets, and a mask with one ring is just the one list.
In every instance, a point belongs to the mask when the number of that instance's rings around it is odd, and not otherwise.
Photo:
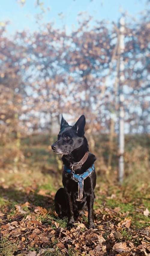
[(72, 227), (74, 219), (87, 206), (88, 229), (90, 229), (95, 228), (93, 203), (96, 173), (93, 164), (96, 158), (88, 152), (84, 126), (84, 115), (73, 126), (68, 125), (64, 118), (61, 118), (58, 141), (52, 145), (52, 150), (57, 154), (63, 154), (64, 188), (60, 188), (55, 195), (55, 210), (59, 217), (67, 216), (67, 226)]

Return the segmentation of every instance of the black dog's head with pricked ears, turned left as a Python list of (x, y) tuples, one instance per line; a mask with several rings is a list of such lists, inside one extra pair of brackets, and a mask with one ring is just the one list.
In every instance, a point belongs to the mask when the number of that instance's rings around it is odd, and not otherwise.
[(68, 155), (74, 149), (82, 146), (84, 140), (84, 126), (84, 115), (82, 115), (73, 126), (70, 126), (62, 117), (58, 140), (52, 144), (52, 150), (57, 154)]

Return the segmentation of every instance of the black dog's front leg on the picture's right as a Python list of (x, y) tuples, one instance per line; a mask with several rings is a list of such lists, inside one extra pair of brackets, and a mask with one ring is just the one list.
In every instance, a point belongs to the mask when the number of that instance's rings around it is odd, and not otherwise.
[(89, 194), (87, 197), (87, 206), (88, 206), (88, 229), (95, 229), (94, 225), (94, 213), (93, 213), (93, 204), (94, 204), (94, 193)]

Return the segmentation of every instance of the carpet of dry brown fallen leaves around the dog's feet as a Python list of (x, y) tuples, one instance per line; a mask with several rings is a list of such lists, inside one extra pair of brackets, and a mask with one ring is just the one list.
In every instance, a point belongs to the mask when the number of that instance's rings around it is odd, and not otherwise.
[[(46, 219), (47, 216), (52, 217), (51, 221)], [(88, 216), (87, 212), (85, 216)], [(101, 207), (95, 210), (94, 230), (86, 228), (87, 223), (82, 216), (71, 230), (67, 230), (51, 208), (34, 206), (27, 201), (15, 205), (15, 214), (11, 218), (10, 214), (0, 212), (0, 237), (7, 237), (17, 244), (15, 255), (57, 255), (57, 251), (68, 255), (71, 248), (76, 255), (87, 256), (150, 255), (150, 228), (133, 230), (132, 219), (124, 216), (119, 207), (104, 207), (104, 212)], [(123, 230), (130, 233), (130, 239), (123, 235)]]

